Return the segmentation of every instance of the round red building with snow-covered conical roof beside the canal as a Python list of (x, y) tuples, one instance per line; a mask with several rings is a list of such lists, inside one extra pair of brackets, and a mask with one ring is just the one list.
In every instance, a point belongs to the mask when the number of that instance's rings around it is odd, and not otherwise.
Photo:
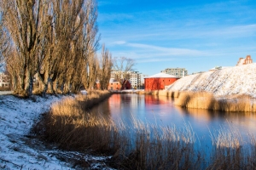
[(177, 81), (177, 79), (179, 78), (163, 72), (155, 74), (151, 77), (146, 77), (144, 78), (145, 90), (163, 90), (173, 82)]

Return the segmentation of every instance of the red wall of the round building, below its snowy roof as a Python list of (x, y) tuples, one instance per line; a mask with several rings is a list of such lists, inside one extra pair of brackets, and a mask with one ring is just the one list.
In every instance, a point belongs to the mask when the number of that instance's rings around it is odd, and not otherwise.
[(162, 90), (171, 85), (178, 78), (145, 78), (145, 90)]

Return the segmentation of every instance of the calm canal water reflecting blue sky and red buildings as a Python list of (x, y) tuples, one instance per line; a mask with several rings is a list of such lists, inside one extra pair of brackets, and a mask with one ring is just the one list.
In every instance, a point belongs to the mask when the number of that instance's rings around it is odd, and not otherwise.
[(116, 121), (122, 119), (127, 125), (131, 125), (132, 117), (160, 126), (183, 128), (184, 123), (190, 124), (201, 144), (210, 144), (210, 134), (220, 129), (236, 129), (244, 142), (248, 134), (256, 137), (256, 114), (186, 110), (164, 96), (113, 94), (93, 111), (109, 114)]

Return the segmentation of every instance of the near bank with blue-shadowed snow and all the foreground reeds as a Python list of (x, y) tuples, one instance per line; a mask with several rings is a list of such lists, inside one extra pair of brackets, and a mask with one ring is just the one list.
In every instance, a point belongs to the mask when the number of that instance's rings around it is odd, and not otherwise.
[[(247, 143), (250, 144), (249, 148), (244, 148), (237, 141), (236, 133), (225, 130), (219, 132), (212, 136), (212, 152), (209, 153), (212, 158), (206, 161), (205, 149), (194, 148), (196, 137), (189, 124), (184, 125), (183, 129), (160, 127), (159, 131), (158, 127), (133, 120), (133, 125), (129, 127), (121, 121), (113, 122), (103, 113), (93, 116), (84, 111), (84, 101), (87, 99), (84, 95), (33, 96), (31, 99), (0, 96), (0, 167), (255, 168), (256, 141), (253, 137)], [(90, 99), (94, 100), (96, 96)], [(39, 123), (31, 133), (33, 124), (38, 122), (43, 112), (48, 111), (51, 115), (44, 114), (44, 117), (49, 120), (49, 124)], [(47, 143), (33, 136), (35, 132), (42, 134), (43, 125), (49, 130)], [(92, 152), (98, 156), (92, 156)]]

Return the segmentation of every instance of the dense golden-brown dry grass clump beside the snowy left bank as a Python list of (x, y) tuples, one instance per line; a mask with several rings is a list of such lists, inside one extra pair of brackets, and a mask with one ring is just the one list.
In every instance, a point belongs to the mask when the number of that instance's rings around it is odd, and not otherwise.
[(46, 139), (67, 150), (116, 150), (119, 144), (113, 140), (117, 138), (113, 133), (117, 128), (113, 121), (108, 116), (86, 112), (109, 94), (108, 91), (91, 91), (52, 105), (45, 118)]

